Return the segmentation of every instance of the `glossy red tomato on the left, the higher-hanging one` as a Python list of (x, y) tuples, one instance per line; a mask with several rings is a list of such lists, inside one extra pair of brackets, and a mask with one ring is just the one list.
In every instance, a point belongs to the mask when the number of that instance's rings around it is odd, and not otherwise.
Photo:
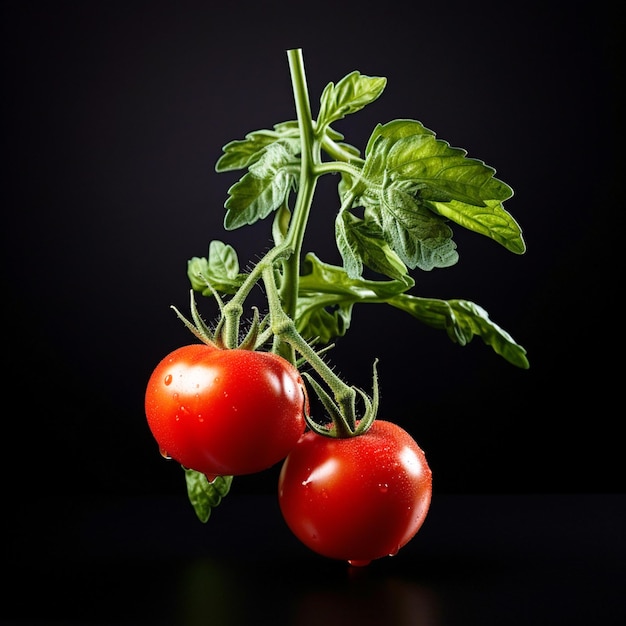
[(166, 356), (145, 395), (161, 453), (207, 476), (251, 474), (284, 459), (305, 430), (307, 403), (286, 359), (204, 344)]

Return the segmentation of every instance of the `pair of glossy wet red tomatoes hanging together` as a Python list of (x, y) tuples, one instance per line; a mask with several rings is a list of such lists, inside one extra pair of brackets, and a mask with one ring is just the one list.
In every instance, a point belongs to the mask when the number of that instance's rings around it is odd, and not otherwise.
[(431, 471), (413, 438), (382, 420), (355, 437), (305, 432), (304, 382), (276, 354), (183, 346), (154, 369), (145, 409), (161, 453), (210, 480), (284, 459), (285, 522), (323, 556), (366, 565), (395, 554), (428, 513)]

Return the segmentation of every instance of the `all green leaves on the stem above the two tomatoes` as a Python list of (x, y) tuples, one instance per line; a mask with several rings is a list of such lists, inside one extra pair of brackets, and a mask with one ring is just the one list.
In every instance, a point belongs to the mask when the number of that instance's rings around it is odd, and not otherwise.
[[(363, 152), (344, 141), (332, 125), (374, 102), (386, 82), (354, 71), (329, 83), (317, 119), (308, 120), (310, 138), (306, 124), (294, 120), (226, 144), (216, 171), (244, 173), (228, 190), (224, 227), (232, 231), (273, 216), (279, 243), (290, 236), (294, 212), (303, 210), (299, 195), (312, 198), (304, 186), (313, 190), (319, 177), (338, 175), (334, 226), (342, 265), (325, 263), (314, 252), (302, 255), (288, 311), (298, 332), (328, 344), (347, 332), (355, 304), (385, 303), (445, 330), (460, 345), (478, 336), (513, 365), (527, 368), (525, 349), (480, 306), (410, 293), (413, 270), (457, 263), (455, 226), (515, 254), (524, 253), (525, 243), (503, 206), (513, 190), (492, 167), (437, 139), (419, 121), (377, 125)], [(286, 280), (281, 267), (279, 284)], [(187, 273), (193, 289), (206, 296), (235, 294), (246, 280), (235, 249), (219, 239), (210, 242), (207, 257), (190, 259)]]

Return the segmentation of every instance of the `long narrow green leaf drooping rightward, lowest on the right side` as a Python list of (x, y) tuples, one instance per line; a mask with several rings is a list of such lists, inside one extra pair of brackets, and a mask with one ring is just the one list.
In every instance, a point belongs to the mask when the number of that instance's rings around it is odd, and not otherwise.
[(512, 365), (522, 369), (529, 367), (526, 350), (492, 322), (485, 309), (473, 302), (418, 298), (409, 294), (400, 294), (387, 302), (433, 328), (445, 330), (455, 343), (467, 345), (477, 335)]

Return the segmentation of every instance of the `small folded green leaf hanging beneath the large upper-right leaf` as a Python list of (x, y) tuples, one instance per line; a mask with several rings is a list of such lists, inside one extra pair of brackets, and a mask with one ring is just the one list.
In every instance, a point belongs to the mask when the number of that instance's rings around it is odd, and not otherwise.
[(410, 280), (406, 265), (389, 247), (382, 230), (373, 221), (341, 211), (335, 220), (335, 238), (350, 278), (361, 276), (365, 265), (389, 278)]

